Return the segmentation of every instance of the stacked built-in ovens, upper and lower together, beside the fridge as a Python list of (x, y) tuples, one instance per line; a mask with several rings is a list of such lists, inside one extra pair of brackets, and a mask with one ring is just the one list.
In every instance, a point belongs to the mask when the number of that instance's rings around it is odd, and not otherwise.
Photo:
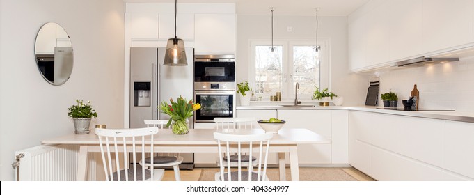
[(196, 122), (214, 122), (216, 117), (235, 115), (235, 56), (196, 55), (194, 58), (194, 100), (201, 108)]

